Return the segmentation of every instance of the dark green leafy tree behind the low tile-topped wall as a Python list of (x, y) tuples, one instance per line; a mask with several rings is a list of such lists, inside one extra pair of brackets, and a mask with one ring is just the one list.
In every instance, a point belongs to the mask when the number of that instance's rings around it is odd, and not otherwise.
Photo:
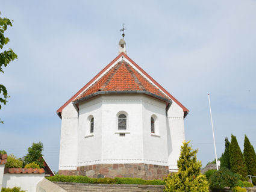
[[(43, 168), (43, 143), (39, 141), (39, 143), (33, 143), (31, 147), (28, 147), (28, 153), (24, 156), (24, 164), (36, 163)], [(24, 166), (25, 166), (24, 165)]]

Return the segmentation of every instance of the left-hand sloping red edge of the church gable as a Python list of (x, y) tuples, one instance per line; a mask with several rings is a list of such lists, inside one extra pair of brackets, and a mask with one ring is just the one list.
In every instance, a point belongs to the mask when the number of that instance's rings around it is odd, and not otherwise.
[[(125, 55), (122, 53), (120, 53), (116, 58), (114, 58), (113, 61), (111, 61), (107, 66), (105, 66), (104, 69), (101, 70), (101, 72), (99, 72), (94, 78), (92, 78), (86, 85), (84, 85), (84, 87), (82, 87), (76, 94), (74, 94), (72, 96), (72, 98), (69, 99), (69, 101), (67, 101), (64, 105), (62, 105), (58, 110), (57, 110), (57, 114), (58, 116), (60, 116), (60, 113), (62, 112), (63, 108), (65, 108), (70, 102), (73, 101), (73, 99), (75, 99), (80, 93), (82, 93), (90, 84), (92, 84), (93, 81), (95, 81), (95, 79), (97, 79), (102, 73), (105, 72), (105, 70), (108, 69), (108, 67), (110, 67), (114, 62), (116, 62), (120, 56)], [(60, 116), (61, 117), (61, 116)]]

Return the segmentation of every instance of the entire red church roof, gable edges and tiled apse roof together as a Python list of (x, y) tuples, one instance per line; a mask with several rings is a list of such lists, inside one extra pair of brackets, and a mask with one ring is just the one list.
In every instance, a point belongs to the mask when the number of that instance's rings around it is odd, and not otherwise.
[[(141, 74), (137, 72), (137, 70), (135, 70), (133, 67), (131, 67), (130, 64), (128, 64), (127, 62), (122, 63), (122, 61), (115, 64), (110, 69), (110, 67), (114, 63), (116, 63), (120, 58), (126, 58), (126, 60), (128, 60), (131, 64), (133, 64), (133, 66), (136, 67)], [(120, 77), (120, 74), (122, 73), (123, 75), (124, 74), (123, 72), (125, 71), (128, 72), (126, 73), (126, 78), (129, 79), (127, 81), (128, 85), (122, 84), (122, 85), (116, 86), (117, 85), (116, 81), (118, 80), (118, 78), (119, 79), (123, 78), (123, 77)], [(115, 72), (118, 72), (119, 75), (115, 75), (116, 74)], [(154, 85), (151, 82), (149, 82), (144, 76), (148, 78)], [(131, 82), (135, 82), (135, 83), (131, 85)], [(108, 64), (103, 70), (101, 70), (101, 72), (99, 72), (98, 75), (96, 75), (92, 80), (90, 80), (86, 85), (84, 85), (84, 87), (81, 88), (76, 94), (74, 94), (72, 98), (69, 99), (69, 101), (67, 101), (62, 107), (60, 107), (57, 110), (57, 114), (58, 116), (61, 117), (62, 110), (72, 101), (78, 101), (78, 99), (89, 96), (92, 93), (96, 93), (95, 91), (102, 90), (102, 88), (104, 90), (108, 90), (108, 89), (113, 90), (114, 87), (122, 90), (129, 90), (130, 88), (132, 89), (135, 88), (137, 91), (141, 91), (143, 90), (143, 88), (145, 88), (146, 89), (145, 91), (150, 91), (150, 93), (154, 94), (155, 96), (160, 96), (161, 98), (169, 97), (168, 99), (171, 99), (183, 109), (184, 117), (186, 116), (187, 113), (189, 113), (189, 110), (186, 107), (184, 107), (178, 100), (176, 100), (172, 96), (172, 94), (170, 94), (160, 84), (158, 84), (157, 81), (155, 81), (151, 76), (148, 75), (148, 73), (146, 73), (133, 60), (131, 60), (130, 57), (128, 57), (125, 53), (121, 52), (113, 61), (111, 61), (110, 64)]]

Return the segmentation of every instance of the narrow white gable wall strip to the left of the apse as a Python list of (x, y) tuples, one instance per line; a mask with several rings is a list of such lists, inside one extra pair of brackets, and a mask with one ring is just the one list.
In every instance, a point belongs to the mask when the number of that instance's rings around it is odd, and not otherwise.
[(78, 113), (70, 103), (63, 109), (61, 116), (59, 170), (76, 170)]

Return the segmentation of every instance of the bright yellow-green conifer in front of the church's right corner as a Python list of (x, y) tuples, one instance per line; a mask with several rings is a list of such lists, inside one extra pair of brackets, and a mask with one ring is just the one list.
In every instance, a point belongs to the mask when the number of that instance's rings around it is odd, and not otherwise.
[(164, 191), (208, 191), (208, 182), (205, 175), (201, 174), (201, 161), (197, 161), (196, 153), (189, 142), (183, 142), (181, 154), (178, 159), (178, 173), (169, 174), (165, 182)]

